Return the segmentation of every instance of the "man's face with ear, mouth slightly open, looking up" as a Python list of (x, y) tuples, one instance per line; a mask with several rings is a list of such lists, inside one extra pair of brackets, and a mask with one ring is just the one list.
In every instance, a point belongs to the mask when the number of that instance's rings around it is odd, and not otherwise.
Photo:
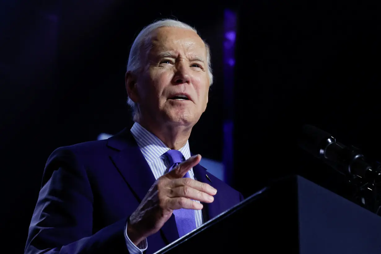
[(151, 34), (146, 67), (130, 86), (141, 120), (193, 126), (208, 102), (207, 51), (192, 30), (161, 27)]

